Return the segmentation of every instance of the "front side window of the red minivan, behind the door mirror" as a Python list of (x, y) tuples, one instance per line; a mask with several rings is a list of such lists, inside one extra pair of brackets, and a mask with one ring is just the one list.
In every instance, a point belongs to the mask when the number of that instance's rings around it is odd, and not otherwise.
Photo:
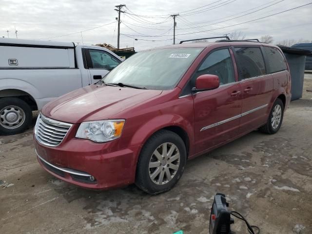
[(192, 77), (192, 87), (200, 75), (211, 74), (219, 77), (220, 85), (235, 82), (234, 68), (229, 49), (212, 52), (200, 65)]

